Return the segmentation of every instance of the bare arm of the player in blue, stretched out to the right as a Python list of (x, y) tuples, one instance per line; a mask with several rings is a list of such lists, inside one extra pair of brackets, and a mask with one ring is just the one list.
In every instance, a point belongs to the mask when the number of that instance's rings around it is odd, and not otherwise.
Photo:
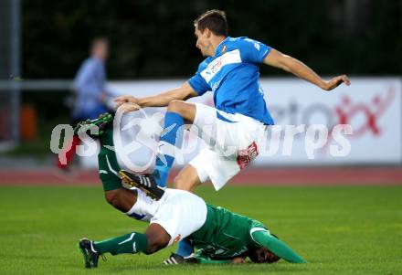
[(282, 54), (279, 50), (272, 48), (270, 54), (264, 58), (264, 64), (291, 72), (295, 76), (305, 79), (317, 85), (323, 90), (333, 90), (342, 83), (350, 85), (350, 80), (346, 75), (338, 76), (328, 81), (323, 80), (311, 68), (302, 61)]

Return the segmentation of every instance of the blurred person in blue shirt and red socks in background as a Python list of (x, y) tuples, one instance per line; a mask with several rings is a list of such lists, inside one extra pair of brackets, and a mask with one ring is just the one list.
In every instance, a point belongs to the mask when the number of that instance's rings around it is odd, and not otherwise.
[[(105, 63), (109, 56), (109, 42), (106, 38), (93, 39), (90, 46), (90, 58), (82, 62), (74, 79), (74, 107), (72, 124), (87, 119), (96, 119), (101, 113), (108, 111), (106, 99), (106, 69)], [(67, 170), (73, 161), (79, 137), (74, 135), (72, 145), (66, 152), (65, 164), (57, 159), (58, 168)]]

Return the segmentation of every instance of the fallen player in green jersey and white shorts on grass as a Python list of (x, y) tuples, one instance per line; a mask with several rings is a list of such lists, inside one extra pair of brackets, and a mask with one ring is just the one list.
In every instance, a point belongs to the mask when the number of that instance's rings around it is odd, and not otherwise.
[[(98, 120), (79, 124), (76, 132), (90, 132), (90, 136), (100, 139), (99, 173), (104, 189), (125, 188), (125, 196), (132, 202), (126, 214), (150, 225), (144, 233), (130, 232), (101, 241), (81, 239), (79, 249), (87, 268), (97, 267), (100, 255), (105, 253), (153, 254), (181, 239), (188, 240), (198, 249), (196, 261), (201, 263), (238, 261), (247, 256), (257, 262), (277, 259), (305, 262), (259, 221), (207, 205), (201, 197), (187, 191), (166, 188), (159, 200), (153, 200), (143, 190), (132, 187), (135, 186), (132, 175), (120, 169), (112, 150), (110, 122), (111, 115), (104, 115)], [(96, 134), (90, 131), (94, 126), (99, 129)]]

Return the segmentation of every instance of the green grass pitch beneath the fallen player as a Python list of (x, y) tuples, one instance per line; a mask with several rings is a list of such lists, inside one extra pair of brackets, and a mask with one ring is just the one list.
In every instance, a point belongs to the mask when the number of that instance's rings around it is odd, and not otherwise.
[(294, 265), (164, 267), (152, 256), (108, 256), (85, 270), (77, 240), (143, 231), (100, 187), (1, 186), (0, 274), (402, 274), (402, 186), (227, 186), (207, 202), (259, 219), (309, 261)]

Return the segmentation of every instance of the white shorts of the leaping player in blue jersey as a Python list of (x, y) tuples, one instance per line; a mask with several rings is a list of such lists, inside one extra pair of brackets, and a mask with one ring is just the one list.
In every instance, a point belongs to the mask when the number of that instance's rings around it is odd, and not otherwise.
[(239, 113), (227, 113), (195, 103), (196, 118), (191, 131), (197, 131), (207, 146), (190, 164), (201, 182), (211, 180), (216, 190), (249, 166), (259, 154), (268, 126)]

